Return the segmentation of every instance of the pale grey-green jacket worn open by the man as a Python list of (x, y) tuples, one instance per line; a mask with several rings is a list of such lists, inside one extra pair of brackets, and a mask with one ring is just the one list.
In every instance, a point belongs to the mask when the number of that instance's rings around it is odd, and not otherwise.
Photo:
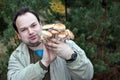
[[(78, 53), (73, 62), (66, 62), (57, 57), (50, 64), (51, 80), (91, 80), (93, 77), (93, 65), (86, 57), (85, 52), (73, 41), (68, 40), (68, 45)], [(39, 61), (30, 64), (28, 47), (21, 43), (11, 54), (8, 62), (8, 80), (42, 80), (47, 70), (39, 65)]]

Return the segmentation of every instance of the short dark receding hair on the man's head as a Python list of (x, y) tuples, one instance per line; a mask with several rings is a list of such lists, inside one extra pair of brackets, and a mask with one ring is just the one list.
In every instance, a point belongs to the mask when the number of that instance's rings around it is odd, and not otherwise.
[(37, 14), (36, 12), (30, 10), (30, 9), (29, 9), (28, 7), (26, 7), (26, 6), (21, 7), (20, 9), (18, 9), (18, 10), (16, 11), (16, 13), (15, 13), (14, 16), (13, 16), (13, 28), (16, 30), (16, 32), (18, 32), (18, 29), (17, 29), (17, 26), (16, 26), (16, 19), (17, 19), (17, 17), (18, 17), (18, 16), (21, 16), (21, 15), (27, 13), (27, 12), (30, 12), (30, 13), (32, 13), (33, 15), (35, 15), (36, 18), (37, 18), (37, 20), (40, 21), (39, 16), (38, 16), (38, 14)]

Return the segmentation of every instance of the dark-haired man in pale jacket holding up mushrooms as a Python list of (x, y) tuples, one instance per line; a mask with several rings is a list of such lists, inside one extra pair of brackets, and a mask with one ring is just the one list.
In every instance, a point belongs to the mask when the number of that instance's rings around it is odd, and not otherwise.
[[(91, 80), (93, 66), (84, 51), (72, 40), (40, 39), (38, 15), (27, 7), (19, 9), (13, 27), (23, 41), (11, 54), (8, 80)], [(38, 56), (35, 51), (43, 55)], [(41, 54), (40, 53), (40, 54)]]

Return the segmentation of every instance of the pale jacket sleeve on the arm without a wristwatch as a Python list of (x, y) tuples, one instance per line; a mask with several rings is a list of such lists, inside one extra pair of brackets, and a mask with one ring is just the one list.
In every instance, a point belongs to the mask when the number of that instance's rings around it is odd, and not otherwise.
[(42, 80), (47, 70), (43, 70), (39, 62), (25, 65), (24, 58), (18, 55), (13, 53), (9, 59), (7, 80)]

